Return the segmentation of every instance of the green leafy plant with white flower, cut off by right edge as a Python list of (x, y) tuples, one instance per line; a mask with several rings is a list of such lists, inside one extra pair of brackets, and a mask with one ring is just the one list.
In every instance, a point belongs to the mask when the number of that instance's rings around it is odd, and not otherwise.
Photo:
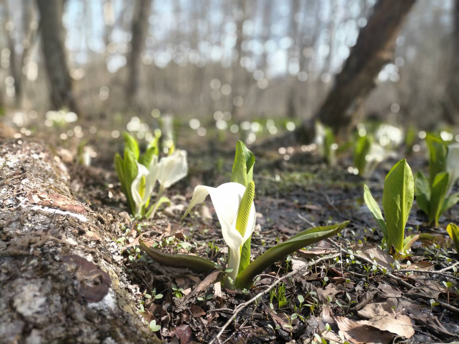
[(446, 146), (432, 134), (425, 141), (429, 148), (429, 179), (422, 172), (414, 177), (416, 201), (429, 217), (429, 224), (438, 227), (442, 214), (459, 201), (459, 193), (450, 194), (459, 173), (459, 146)]

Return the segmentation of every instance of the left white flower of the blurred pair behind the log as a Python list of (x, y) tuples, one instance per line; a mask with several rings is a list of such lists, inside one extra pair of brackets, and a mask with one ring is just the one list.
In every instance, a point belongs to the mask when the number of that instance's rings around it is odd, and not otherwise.
[[(132, 198), (135, 202), (135, 212), (140, 214), (142, 206), (146, 205), (146, 202), (150, 199), (151, 193), (153, 192), (153, 188), (158, 178), (159, 174), (159, 166), (158, 166), (158, 157), (153, 155), (151, 159), (150, 166), (146, 168), (146, 166), (137, 163), (137, 177), (135, 177), (134, 181), (131, 184), (131, 193)], [(145, 188), (140, 190), (140, 183), (142, 177), (145, 177)]]

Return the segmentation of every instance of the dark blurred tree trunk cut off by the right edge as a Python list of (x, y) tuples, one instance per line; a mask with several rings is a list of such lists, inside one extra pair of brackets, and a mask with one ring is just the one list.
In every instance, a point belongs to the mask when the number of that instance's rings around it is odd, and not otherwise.
[(453, 125), (459, 124), (459, 0), (454, 6), (453, 49), (443, 109), (445, 119)]

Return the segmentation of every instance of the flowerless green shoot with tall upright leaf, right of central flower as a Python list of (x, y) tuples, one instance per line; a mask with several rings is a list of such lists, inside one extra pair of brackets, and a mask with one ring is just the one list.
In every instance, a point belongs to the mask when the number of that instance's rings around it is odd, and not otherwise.
[(384, 180), (382, 207), (386, 220), (382, 217), (381, 209), (370, 190), (364, 185), (365, 204), (381, 228), (387, 248), (394, 256), (409, 250), (414, 241), (419, 238), (416, 236), (404, 238), (405, 225), (413, 205), (413, 198), (413, 174), (406, 159), (398, 161)]

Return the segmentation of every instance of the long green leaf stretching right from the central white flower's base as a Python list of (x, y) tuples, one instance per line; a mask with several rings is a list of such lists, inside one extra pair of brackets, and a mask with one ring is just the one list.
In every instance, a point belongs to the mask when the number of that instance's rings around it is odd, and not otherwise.
[(303, 248), (304, 246), (314, 244), (320, 240), (330, 238), (339, 233), (347, 226), (349, 221), (342, 222), (338, 225), (325, 227), (313, 227), (296, 234), (290, 239), (271, 247), (265, 253), (257, 257), (250, 263), (246, 269), (236, 278), (235, 286), (239, 289), (249, 289), (253, 284), (253, 279), (262, 273), (276, 261), (280, 261), (285, 256)]

